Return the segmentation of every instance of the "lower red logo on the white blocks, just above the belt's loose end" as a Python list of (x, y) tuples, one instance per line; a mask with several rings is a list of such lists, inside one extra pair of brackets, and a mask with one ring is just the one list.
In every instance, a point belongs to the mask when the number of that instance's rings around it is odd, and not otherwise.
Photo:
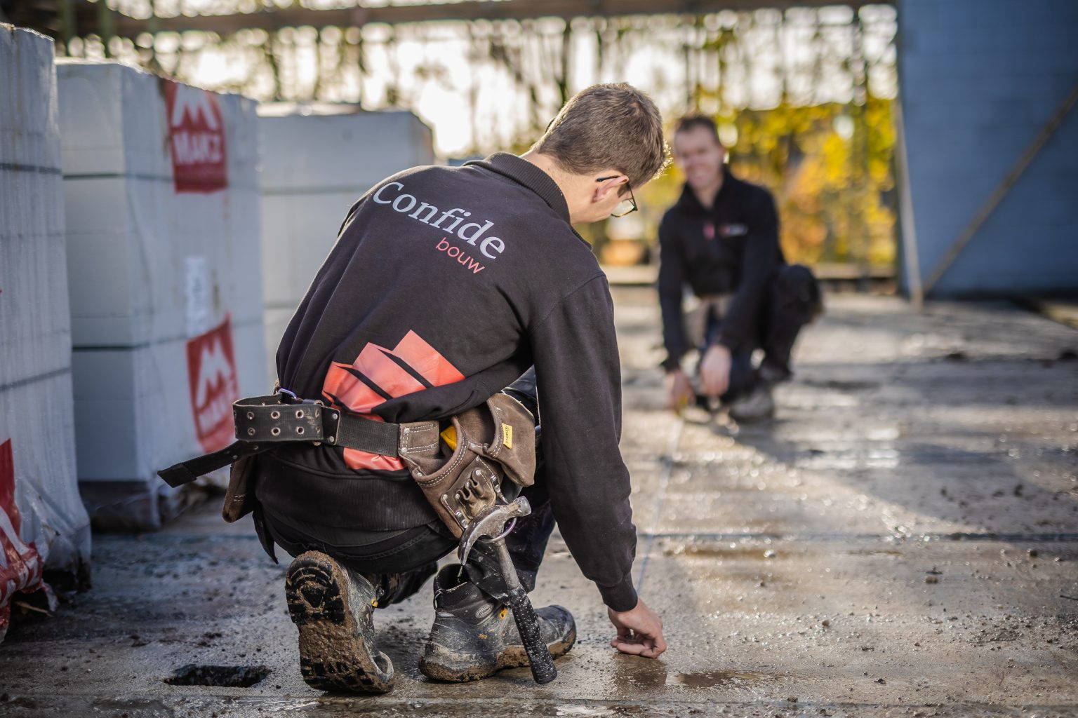
[(239, 398), (231, 318), (188, 340), (188, 379), (198, 444), (207, 452), (223, 449), (235, 437), (232, 403)]

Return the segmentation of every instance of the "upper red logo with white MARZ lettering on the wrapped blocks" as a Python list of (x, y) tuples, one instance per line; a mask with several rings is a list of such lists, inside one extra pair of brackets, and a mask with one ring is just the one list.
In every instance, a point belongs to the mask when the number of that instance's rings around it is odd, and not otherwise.
[(229, 186), (227, 152), (217, 96), (198, 87), (162, 82), (176, 192), (224, 189)]

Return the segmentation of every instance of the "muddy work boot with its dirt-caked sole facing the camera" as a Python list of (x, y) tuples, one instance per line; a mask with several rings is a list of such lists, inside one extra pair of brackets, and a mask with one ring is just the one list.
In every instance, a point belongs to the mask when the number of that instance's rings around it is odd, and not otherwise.
[(354, 693), (392, 689), (393, 664), (374, 645), (377, 595), (370, 581), (324, 553), (307, 551), (288, 567), (285, 597), (300, 629), (300, 671), (308, 686)]

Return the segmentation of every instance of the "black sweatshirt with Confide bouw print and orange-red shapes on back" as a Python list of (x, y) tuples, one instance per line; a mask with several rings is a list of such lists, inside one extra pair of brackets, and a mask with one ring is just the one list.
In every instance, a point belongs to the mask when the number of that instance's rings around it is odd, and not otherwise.
[[(446, 419), (535, 366), (554, 516), (616, 610), (636, 605), (613, 304), (561, 189), (510, 154), (418, 167), (353, 208), (277, 352), (281, 386), (390, 422)], [(437, 517), (399, 460), (289, 447), (259, 498), (368, 530)], [(281, 471), (273, 471), (278, 477)]]

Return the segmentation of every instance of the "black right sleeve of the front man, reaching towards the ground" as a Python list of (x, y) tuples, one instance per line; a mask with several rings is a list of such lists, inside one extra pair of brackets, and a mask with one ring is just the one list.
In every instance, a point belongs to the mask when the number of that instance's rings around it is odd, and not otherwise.
[(554, 518), (584, 576), (614, 610), (636, 606), (636, 527), (621, 457), (621, 366), (605, 277), (566, 296), (531, 328), (540, 449)]

